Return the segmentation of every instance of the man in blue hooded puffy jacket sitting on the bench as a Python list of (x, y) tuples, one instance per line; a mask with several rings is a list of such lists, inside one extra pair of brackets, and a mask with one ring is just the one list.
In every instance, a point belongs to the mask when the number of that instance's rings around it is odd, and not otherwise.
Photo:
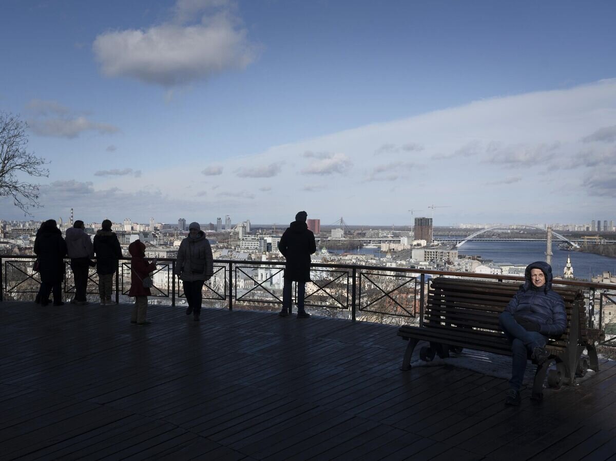
[(567, 327), (565, 303), (552, 288), (552, 268), (538, 261), (525, 270), (526, 281), (499, 317), (513, 351), (510, 389), (505, 404), (520, 404), (520, 388), (528, 354), (540, 366), (549, 357), (548, 336), (559, 336)]

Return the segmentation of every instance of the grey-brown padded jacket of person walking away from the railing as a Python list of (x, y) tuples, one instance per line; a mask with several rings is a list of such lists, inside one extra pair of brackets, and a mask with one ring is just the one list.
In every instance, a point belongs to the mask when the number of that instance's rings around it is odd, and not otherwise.
[(176, 274), (185, 282), (209, 280), (214, 275), (214, 258), (212, 247), (199, 231), (197, 238), (186, 237), (177, 251)]

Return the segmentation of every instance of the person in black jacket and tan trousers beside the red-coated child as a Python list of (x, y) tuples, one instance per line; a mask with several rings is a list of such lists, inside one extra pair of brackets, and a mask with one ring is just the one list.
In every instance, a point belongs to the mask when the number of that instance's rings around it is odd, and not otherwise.
[(102, 305), (115, 304), (113, 294), (113, 274), (118, 269), (118, 260), (122, 257), (122, 247), (118, 236), (111, 231), (111, 221), (103, 220), (102, 228), (94, 236), (94, 253), (96, 254), (96, 273), (99, 275), (99, 297)]

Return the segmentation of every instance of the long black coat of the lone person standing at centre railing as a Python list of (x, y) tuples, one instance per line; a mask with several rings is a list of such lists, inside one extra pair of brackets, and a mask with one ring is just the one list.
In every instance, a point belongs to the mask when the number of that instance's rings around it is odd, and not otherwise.
[(306, 222), (293, 221), (280, 238), (278, 250), (286, 259), (285, 278), (309, 282), (310, 255), (317, 251), (317, 243)]

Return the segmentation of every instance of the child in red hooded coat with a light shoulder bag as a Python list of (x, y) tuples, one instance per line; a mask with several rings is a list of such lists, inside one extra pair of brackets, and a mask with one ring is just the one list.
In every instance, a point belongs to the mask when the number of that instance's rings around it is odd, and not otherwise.
[(156, 270), (156, 258), (148, 263), (145, 259), (145, 245), (136, 240), (128, 246), (131, 254), (131, 290), (129, 296), (135, 297), (135, 306), (132, 308), (131, 323), (137, 326), (149, 325), (152, 322), (145, 320), (148, 310), (148, 296), (152, 295), (149, 287), (144, 286), (144, 280)]

